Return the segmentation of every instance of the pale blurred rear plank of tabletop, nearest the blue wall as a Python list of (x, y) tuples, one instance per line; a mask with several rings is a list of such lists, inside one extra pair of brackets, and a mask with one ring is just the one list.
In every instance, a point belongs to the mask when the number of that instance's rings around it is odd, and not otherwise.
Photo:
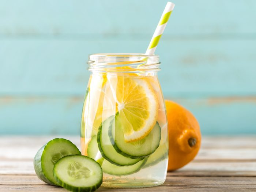
[[(79, 136), (1, 136), (0, 159), (33, 159), (37, 150), (49, 140), (54, 138), (69, 139), (80, 148)], [(215, 143), (217, 144), (215, 145)], [(248, 138), (226, 137), (226, 139), (224, 137), (217, 136), (203, 136), (202, 146), (200, 148), (199, 154), (196, 157), (196, 160), (209, 161), (215, 159), (235, 159), (241, 161), (247, 159), (251, 161), (256, 161), (255, 143), (256, 141), (254, 136)], [(233, 145), (234, 147), (231, 147)], [(15, 153), (13, 153), (14, 148)]]

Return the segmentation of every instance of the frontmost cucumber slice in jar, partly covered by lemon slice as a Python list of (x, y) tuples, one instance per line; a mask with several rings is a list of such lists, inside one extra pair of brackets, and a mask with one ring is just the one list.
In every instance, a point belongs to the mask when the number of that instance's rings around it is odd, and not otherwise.
[(109, 138), (117, 153), (129, 158), (147, 157), (154, 153), (161, 140), (161, 128), (158, 123), (148, 135), (135, 142), (125, 142), (121, 123), (116, 119), (115, 126), (109, 129)]

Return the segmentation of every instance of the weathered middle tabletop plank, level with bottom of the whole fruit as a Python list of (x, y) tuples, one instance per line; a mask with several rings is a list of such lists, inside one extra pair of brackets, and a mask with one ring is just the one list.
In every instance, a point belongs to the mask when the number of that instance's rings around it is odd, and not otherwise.
[[(168, 173), (170, 176), (219, 176), (219, 177), (255, 177), (256, 161), (239, 162), (227, 160), (226, 162), (215, 161), (192, 161), (185, 167)], [(0, 175), (35, 175), (33, 159), (10, 160), (0, 159)]]

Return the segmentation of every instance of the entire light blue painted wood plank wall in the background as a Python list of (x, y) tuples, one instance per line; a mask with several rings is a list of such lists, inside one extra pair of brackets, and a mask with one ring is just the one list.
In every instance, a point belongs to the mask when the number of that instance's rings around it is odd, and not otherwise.
[[(203, 134), (256, 133), (256, 1), (173, 0), (166, 99)], [(0, 134), (77, 134), (87, 55), (143, 53), (166, 0), (0, 0)]]

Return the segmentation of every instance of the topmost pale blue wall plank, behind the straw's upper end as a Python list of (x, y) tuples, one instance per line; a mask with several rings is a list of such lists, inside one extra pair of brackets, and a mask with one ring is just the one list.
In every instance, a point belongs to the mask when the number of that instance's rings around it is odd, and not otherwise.
[[(253, 0), (174, 0), (175, 10), (165, 35), (252, 34), (256, 32)], [(60, 6), (61, 4), (61, 6)], [(1, 3), (0, 33), (4, 35), (143, 34), (150, 39), (166, 1), (15, 1)], [(97, 10), (97, 12), (95, 11)], [(243, 13), (243, 14), (239, 14)], [(31, 16), (33, 15), (33, 16)], [(118, 16), (117, 16), (118, 15)], [(144, 36), (144, 37), (143, 37)], [(248, 38), (241, 34), (238, 38)]]

